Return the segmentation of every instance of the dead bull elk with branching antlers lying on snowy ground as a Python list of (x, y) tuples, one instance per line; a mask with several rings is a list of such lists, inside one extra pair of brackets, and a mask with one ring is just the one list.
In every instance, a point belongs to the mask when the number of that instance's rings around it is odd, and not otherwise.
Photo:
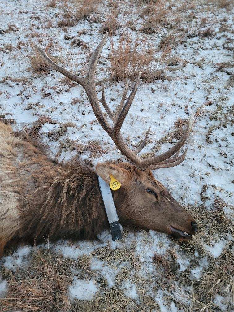
[[(183, 162), (187, 149), (179, 156), (192, 128), (193, 116), (181, 139), (168, 151), (148, 159), (130, 150), (120, 132), (137, 91), (139, 74), (126, 99), (126, 85), (116, 113), (108, 107), (104, 89), (97, 98), (95, 69), (107, 34), (93, 52), (85, 77), (81, 78), (54, 63), (37, 47), (41, 57), (56, 71), (76, 81), (86, 91), (96, 118), (129, 163), (98, 163), (96, 171), (77, 159), (59, 163), (50, 159), (40, 144), (27, 133), (15, 133), (11, 126), (0, 122), (0, 255), (6, 245), (23, 241), (38, 243), (69, 238), (93, 240), (109, 228), (100, 193), (98, 175), (110, 183), (110, 175), (121, 187), (112, 197), (123, 226), (153, 229), (167, 233), (177, 240), (188, 240), (197, 231), (193, 217), (157, 181), (151, 170), (176, 166)], [(113, 126), (105, 118), (104, 106)]]

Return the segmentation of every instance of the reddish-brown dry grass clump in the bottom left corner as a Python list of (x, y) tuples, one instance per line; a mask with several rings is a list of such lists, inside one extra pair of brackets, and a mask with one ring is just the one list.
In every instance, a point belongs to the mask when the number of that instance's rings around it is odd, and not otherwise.
[(72, 277), (69, 259), (50, 250), (33, 251), (29, 264), (15, 274), (3, 272), (9, 283), (7, 296), (0, 299), (1, 312), (67, 311), (71, 304), (68, 286)]

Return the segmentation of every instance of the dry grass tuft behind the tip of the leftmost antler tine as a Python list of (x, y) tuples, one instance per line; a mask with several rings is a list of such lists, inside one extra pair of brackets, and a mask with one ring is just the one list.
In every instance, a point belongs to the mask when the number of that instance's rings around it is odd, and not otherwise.
[(47, 72), (50, 66), (39, 55), (35, 44), (44, 50), (46, 54), (50, 55), (53, 51), (53, 41), (45, 33), (32, 32), (21, 52), (22, 56), (27, 58), (35, 72)]

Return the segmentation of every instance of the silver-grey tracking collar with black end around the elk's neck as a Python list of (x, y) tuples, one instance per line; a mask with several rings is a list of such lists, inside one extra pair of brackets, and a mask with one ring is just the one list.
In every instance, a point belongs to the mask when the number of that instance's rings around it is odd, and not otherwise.
[(119, 224), (119, 217), (116, 212), (110, 185), (107, 184), (99, 175), (98, 183), (102, 195), (102, 200), (104, 202), (106, 215), (110, 224), (112, 241), (117, 241), (122, 238), (123, 227), (121, 224)]

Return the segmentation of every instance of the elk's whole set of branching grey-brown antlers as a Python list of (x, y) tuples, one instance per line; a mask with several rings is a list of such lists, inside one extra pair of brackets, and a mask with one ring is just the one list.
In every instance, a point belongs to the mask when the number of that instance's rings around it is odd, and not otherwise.
[[(123, 96), (122, 96), (122, 100), (120, 101), (120, 104), (119, 104), (119, 107), (117, 109), (116, 114), (113, 114), (111, 112), (110, 108), (108, 107), (108, 105), (106, 103), (104, 88), (102, 89), (102, 97), (100, 100), (98, 100), (96, 87), (95, 87), (95, 70), (96, 70), (98, 58), (99, 58), (101, 50), (105, 44), (107, 35), (108, 35), (108, 33), (105, 34), (104, 38), (102, 39), (102, 41), (99, 43), (99, 45), (96, 47), (95, 51), (93, 52), (93, 54), (90, 58), (89, 64), (88, 64), (87, 74), (85, 77), (80, 77), (80, 76), (77, 76), (77, 75), (71, 73), (70, 71), (67, 71), (66, 69), (62, 68), (61, 66), (59, 66), (55, 62), (53, 62), (41, 48), (39, 48), (38, 46), (35, 46), (35, 47), (36, 47), (37, 51), (39, 52), (39, 54), (41, 55), (41, 57), (46, 61), (46, 63), (51, 65), (52, 68), (54, 68), (56, 71), (60, 72), (61, 74), (65, 75), (69, 79), (77, 82), (78, 84), (80, 84), (85, 89), (85, 92), (89, 98), (89, 101), (90, 101), (90, 104), (91, 104), (92, 109), (94, 111), (94, 114), (95, 114), (97, 120), (99, 121), (100, 125), (105, 130), (105, 132), (110, 135), (111, 139), (114, 141), (114, 143), (117, 146), (117, 148), (119, 149), (119, 151), (122, 154), (124, 154), (124, 156), (126, 156), (137, 168), (142, 169), (142, 170), (144, 170), (146, 168), (154, 170), (154, 169), (158, 169), (158, 168), (173, 167), (173, 166), (176, 166), (176, 165), (182, 163), (184, 158), (185, 158), (187, 149), (180, 156), (178, 156), (178, 153), (179, 153), (179, 149), (184, 145), (184, 143), (185, 143), (186, 139), (188, 138), (188, 135), (192, 129), (193, 114), (189, 118), (188, 125), (187, 125), (181, 139), (171, 149), (169, 149), (167, 152), (165, 152), (161, 155), (151, 157), (148, 159), (143, 159), (143, 158), (138, 157), (136, 155), (143, 149), (143, 147), (147, 141), (147, 138), (148, 138), (150, 127), (149, 127), (149, 130), (147, 131), (147, 133), (145, 135), (143, 142), (139, 145), (139, 147), (135, 151), (130, 150), (128, 148), (127, 144), (124, 142), (124, 138), (120, 132), (120, 129), (124, 123), (124, 119), (126, 118), (126, 116), (128, 114), (130, 106), (134, 100), (134, 96), (137, 92), (137, 87), (138, 87), (138, 84), (140, 81), (141, 72), (139, 73), (138, 78), (134, 84), (134, 87), (133, 87), (129, 97), (127, 98), (127, 100), (125, 102), (127, 90), (128, 90), (128, 84), (126, 85)], [(99, 101), (102, 103), (107, 114), (112, 119), (113, 124), (114, 124), (113, 127), (109, 124), (109, 122), (105, 118), (105, 116), (104, 116), (104, 114), (100, 108)], [(125, 104), (124, 104), (124, 102), (125, 102)], [(175, 156), (173, 158), (170, 158), (173, 155), (175, 155)]]

